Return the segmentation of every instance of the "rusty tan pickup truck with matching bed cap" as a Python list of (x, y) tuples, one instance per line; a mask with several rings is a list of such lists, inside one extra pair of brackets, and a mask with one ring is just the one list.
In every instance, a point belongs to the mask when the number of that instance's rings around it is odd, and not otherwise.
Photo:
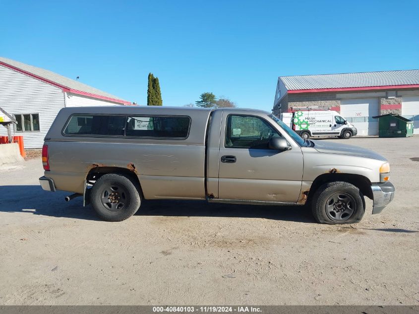
[[(61, 109), (43, 147), (43, 189), (91, 203), (104, 220), (133, 215), (143, 199), (309, 204), (320, 223), (358, 222), (364, 196), (379, 213), (393, 199), (381, 155), (303, 140), (272, 114), (250, 109)], [(280, 210), (280, 208), (278, 208)]]

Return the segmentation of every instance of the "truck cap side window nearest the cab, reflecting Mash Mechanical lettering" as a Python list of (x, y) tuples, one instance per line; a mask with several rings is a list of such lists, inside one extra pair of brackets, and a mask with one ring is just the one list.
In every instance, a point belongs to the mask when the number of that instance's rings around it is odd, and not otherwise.
[(189, 132), (189, 117), (128, 117), (126, 136), (186, 138)]

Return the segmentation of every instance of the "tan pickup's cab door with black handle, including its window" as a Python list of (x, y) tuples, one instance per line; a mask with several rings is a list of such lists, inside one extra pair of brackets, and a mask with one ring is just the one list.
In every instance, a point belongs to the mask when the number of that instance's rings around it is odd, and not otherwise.
[(270, 137), (282, 136), (268, 117), (223, 112), (219, 149), (219, 198), (297, 202), (303, 157), (301, 148), (268, 148)]

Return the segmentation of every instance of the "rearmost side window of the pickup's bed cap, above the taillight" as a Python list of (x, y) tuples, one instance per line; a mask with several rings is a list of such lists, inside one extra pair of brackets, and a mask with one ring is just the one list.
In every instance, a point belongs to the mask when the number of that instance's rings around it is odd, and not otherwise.
[(125, 116), (75, 115), (64, 129), (68, 135), (123, 135)]

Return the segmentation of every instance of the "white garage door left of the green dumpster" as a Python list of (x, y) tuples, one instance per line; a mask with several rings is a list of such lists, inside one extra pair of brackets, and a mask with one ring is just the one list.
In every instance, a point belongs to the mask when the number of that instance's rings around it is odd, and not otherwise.
[(378, 135), (378, 98), (356, 98), (341, 100), (341, 115), (357, 129), (358, 135)]

